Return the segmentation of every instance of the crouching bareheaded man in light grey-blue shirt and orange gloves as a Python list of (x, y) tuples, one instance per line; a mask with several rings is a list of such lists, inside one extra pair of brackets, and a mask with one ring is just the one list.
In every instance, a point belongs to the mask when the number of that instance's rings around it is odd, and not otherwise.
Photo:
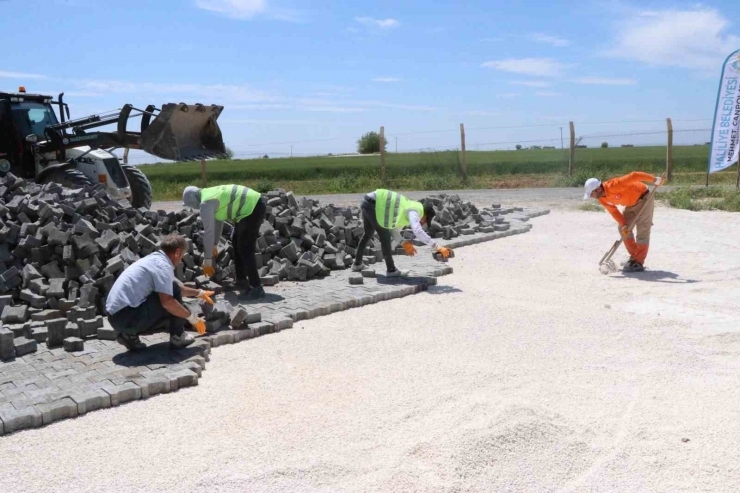
[(134, 262), (113, 284), (105, 309), (108, 321), (118, 332), (116, 340), (129, 350), (145, 348), (139, 334), (162, 323), (169, 326), (173, 349), (187, 347), (195, 340), (185, 332), (185, 321), (199, 333), (205, 332), (205, 322), (182, 305), (182, 297), (197, 296), (213, 304), (213, 292), (182, 286), (175, 278), (175, 267), (187, 248), (185, 237), (166, 236), (160, 251)]

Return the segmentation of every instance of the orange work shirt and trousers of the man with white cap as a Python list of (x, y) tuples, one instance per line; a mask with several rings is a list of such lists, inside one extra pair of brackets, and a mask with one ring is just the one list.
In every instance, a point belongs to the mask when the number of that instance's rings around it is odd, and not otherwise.
[[(625, 226), (629, 221), (634, 221), (637, 214), (642, 212), (639, 221), (634, 226), (637, 227), (637, 241), (635, 235), (630, 231), (630, 235), (624, 240), (624, 246), (627, 248), (630, 257), (640, 264), (645, 263), (648, 249), (650, 248), (650, 229), (653, 225), (653, 210), (655, 201), (652, 197), (647, 200), (643, 197), (648, 187), (642, 182), (655, 182), (655, 177), (648, 173), (635, 171), (625, 176), (612, 178), (605, 181), (604, 192), (606, 195), (599, 199), (609, 214), (619, 223)], [(624, 215), (619, 212), (616, 206), (625, 206)]]

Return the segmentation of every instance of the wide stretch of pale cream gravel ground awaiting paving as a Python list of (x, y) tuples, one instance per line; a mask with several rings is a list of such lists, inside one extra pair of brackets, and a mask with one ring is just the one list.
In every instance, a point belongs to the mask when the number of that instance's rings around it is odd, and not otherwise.
[(0, 491), (736, 492), (740, 215), (660, 208), (629, 277), (597, 268), (607, 214), (533, 222), (195, 388), (1, 437)]

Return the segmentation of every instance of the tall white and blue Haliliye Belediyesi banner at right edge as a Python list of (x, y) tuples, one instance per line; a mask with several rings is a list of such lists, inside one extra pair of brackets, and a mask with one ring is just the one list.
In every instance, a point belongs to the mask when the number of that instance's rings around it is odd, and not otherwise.
[(729, 168), (740, 155), (740, 50), (722, 66), (709, 147), (709, 172)]

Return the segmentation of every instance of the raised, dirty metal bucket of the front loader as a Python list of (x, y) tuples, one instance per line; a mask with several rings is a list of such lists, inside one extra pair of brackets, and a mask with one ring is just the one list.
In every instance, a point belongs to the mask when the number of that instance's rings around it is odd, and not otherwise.
[(226, 153), (216, 120), (223, 106), (167, 103), (142, 131), (141, 149), (162, 159), (196, 161)]

